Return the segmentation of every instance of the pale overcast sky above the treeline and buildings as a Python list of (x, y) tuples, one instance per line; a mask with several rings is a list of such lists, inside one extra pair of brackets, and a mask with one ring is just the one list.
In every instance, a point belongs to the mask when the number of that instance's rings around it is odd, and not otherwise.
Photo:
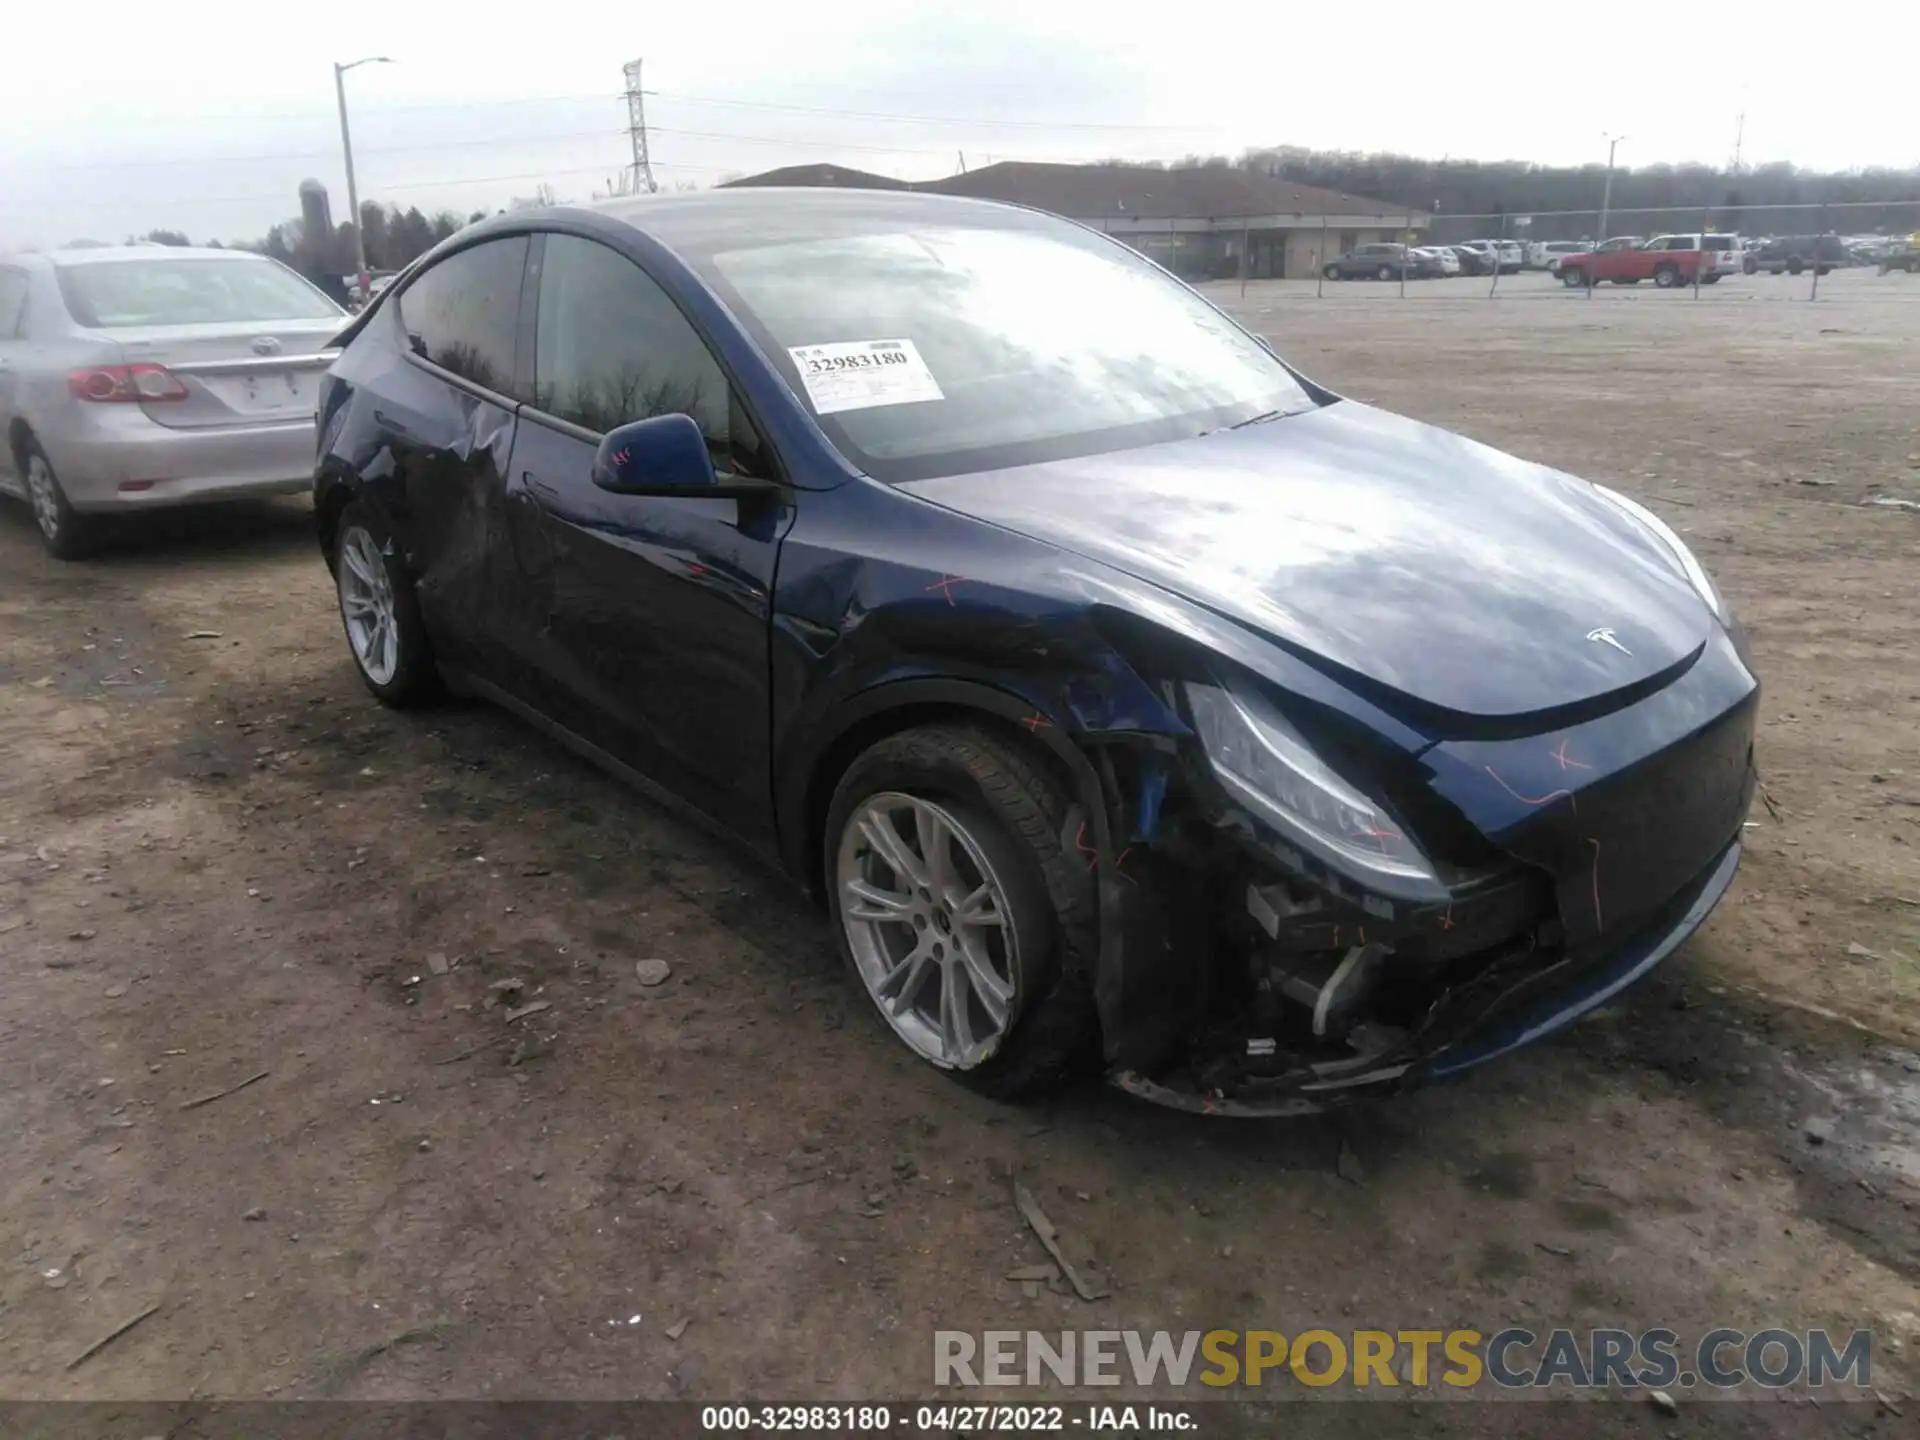
[[(0, 248), (156, 227), (250, 240), (315, 177), (348, 217), (332, 61), (363, 200), (497, 209), (586, 200), (628, 159), (620, 65), (645, 56), (660, 184), (803, 161), (929, 179), (991, 159), (1175, 159), (1256, 144), (1580, 163), (1920, 163), (1920, 21), (1860, 31), (1741, 0), (1607, 8), (1336, 0), (538, 0), (19, 4), (0, 86)], [(1724, 13), (1726, 19), (1711, 19)], [(1901, 17), (1895, 19), (1895, 13)], [(1177, 15), (1192, 17), (1175, 23)], [(1398, 17), (1396, 17), (1398, 15)], [(1352, 17), (1346, 23), (1342, 17)], [(835, 111), (835, 113), (820, 113)], [(849, 113), (858, 111), (858, 113)]]

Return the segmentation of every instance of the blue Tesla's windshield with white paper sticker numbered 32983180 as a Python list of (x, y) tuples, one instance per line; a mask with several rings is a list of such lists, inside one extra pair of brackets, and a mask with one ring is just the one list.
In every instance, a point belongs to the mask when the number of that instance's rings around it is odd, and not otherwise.
[(925, 227), (726, 250), (703, 269), (828, 438), (879, 480), (1183, 440), (1313, 401), (1131, 250)]

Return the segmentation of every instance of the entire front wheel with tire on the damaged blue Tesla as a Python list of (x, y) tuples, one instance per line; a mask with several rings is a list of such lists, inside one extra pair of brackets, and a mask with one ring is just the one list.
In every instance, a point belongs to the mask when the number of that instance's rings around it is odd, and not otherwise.
[(889, 735), (828, 806), (847, 966), (895, 1039), (983, 1094), (1058, 1083), (1094, 1035), (1075, 814), (1035, 755), (972, 724)]

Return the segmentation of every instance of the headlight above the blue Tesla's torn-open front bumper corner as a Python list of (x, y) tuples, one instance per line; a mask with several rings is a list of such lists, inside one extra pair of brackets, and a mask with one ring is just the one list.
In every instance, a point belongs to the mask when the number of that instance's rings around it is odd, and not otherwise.
[(1334, 774), (1269, 701), (1221, 685), (1185, 689), (1208, 764), (1240, 804), (1367, 889), (1446, 899), (1432, 862), (1386, 808)]

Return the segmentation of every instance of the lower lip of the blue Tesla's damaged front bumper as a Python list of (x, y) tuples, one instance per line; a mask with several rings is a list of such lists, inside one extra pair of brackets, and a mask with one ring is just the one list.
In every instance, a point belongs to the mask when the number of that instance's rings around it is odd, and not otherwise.
[(1213, 1066), (1188, 1062), (1152, 1077), (1121, 1068), (1110, 1079), (1129, 1094), (1175, 1110), (1279, 1117), (1457, 1075), (1565, 1029), (1638, 983), (1699, 929), (1732, 885), (1738, 866), (1736, 839), (1624, 941), (1548, 956), (1528, 947), (1496, 958), (1448, 991), (1417, 1029), (1379, 1050), (1279, 1075), (1248, 1069), (1227, 1083), (1219, 1081), (1219, 1064), (1231, 1064), (1233, 1056), (1212, 1056)]

